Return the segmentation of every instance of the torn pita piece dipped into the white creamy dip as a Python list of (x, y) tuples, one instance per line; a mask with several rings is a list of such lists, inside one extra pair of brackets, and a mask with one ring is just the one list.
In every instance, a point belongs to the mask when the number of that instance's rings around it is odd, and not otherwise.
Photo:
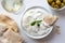
[(43, 18), (43, 20), (50, 26), (53, 26), (57, 19), (58, 19), (57, 16), (50, 16), (50, 15), (48, 15)]

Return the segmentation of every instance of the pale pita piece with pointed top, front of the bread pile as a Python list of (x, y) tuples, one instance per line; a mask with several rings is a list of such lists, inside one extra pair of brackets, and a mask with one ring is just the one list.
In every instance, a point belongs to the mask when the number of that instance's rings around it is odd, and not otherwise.
[(23, 42), (24, 42), (23, 38), (18, 33), (10, 29), (6, 32), (4, 32), (2, 37), (0, 37), (0, 43), (23, 43)]

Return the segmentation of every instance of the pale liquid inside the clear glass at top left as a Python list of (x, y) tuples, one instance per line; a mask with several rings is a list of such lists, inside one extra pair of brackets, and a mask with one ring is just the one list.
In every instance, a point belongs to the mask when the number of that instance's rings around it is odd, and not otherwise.
[(2, 0), (2, 6), (9, 12), (16, 13), (23, 6), (23, 0)]

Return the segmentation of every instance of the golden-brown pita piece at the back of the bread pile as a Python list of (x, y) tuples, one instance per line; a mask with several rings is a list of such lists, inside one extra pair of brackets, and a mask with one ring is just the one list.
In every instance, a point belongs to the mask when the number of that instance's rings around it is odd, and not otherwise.
[(0, 23), (6, 25), (6, 27), (12, 29), (14, 32), (18, 32), (18, 27), (17, 27), (16, 23), (9, 16), (0, 15)]

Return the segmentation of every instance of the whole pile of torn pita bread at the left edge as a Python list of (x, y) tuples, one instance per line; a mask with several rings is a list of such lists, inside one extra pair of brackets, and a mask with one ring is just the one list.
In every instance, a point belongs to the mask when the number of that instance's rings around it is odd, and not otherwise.
[(23, 43), (16, 23), (6, 15), (0, 15), (0, 43)]

